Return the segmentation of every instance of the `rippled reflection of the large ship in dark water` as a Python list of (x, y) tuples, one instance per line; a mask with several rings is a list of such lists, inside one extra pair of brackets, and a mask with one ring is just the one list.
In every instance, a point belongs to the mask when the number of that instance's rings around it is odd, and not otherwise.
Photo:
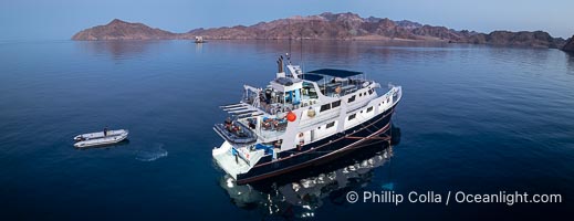
[[(226, 175), (220, 179), (220, 186), (237, 207), (246, 210), (261, 210), (264, 215), (283, 218), (314, 217), (314, 211), (326, 200), (333, 204), (347, 203), (348, 191), (367, 186), (373, 180), (374, 169), (390, 162), (400, 130), (393, 127), (392, 133), (390, 144), (382, 141), (362, 147), (335, 162), (312, 167), (309, 171), (243, 186), (237, 186), (233, 178)], [(393, 189), (393, 183), (382, 188)]]

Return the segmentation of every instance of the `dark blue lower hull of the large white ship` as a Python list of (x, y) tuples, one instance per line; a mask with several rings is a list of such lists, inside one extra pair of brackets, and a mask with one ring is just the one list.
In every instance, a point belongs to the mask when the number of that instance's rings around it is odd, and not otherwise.
[(282, 151), (279, 159), (272, 161), (271, 156), (263, 157), (249, 172), (238, 175), (239, 185), (254, 182), (310, 166), (326, 164), (343, 157), (353, 150), (368, 145), (390, 141), (390, 119), (395, 107), (389, 108), (372, 119), (359, 124), (345, 133), (338, 133), (319, 141), (303, 146), (301, 149)]

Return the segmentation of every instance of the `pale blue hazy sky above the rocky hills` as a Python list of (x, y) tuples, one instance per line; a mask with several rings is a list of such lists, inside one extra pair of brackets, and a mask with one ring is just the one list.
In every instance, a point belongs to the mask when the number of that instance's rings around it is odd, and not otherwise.
[(114, 18), (171, 32), (355, 12), (461, 30), (574, 34), (574, 0), (0, 0), (0, 40), (70, 39)]

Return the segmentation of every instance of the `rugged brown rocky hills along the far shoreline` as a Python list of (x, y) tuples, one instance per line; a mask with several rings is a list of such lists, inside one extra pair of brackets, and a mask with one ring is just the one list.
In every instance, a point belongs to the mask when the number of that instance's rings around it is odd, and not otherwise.
[[(208, 40), (372, 40), (372, 41), (437, 41), (449, 43), (493, 44), (531, 48), (574, 50), (572, 38), (553, 38), (544, 31), (493, 31), (480, 33), (453, 30), (446, 27), (420, 24), (413, 21), (393, 21), (380, 18), (362, 18), (355, 13), (330, 13), (291, 17), (250, 27), (236, 25), (195, 29), (186, 33), (173, 33), (131, 23), (118, 19), (97, 25), (72, 36), (77, 41), (98, 40), (173, 40), (201, 35)], [(567, 43), (566, 43), (567, 42)]]

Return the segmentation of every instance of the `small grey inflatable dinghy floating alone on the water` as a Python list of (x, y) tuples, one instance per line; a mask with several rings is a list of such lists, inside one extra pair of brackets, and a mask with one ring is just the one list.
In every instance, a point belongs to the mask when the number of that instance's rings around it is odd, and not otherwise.
[(106, 130), (88, 133), (83, 135), (77, 135), (74, 137), (74, 147), (84, 148), (84, 147), (93, 147), (101, 145), (111, 145), (119, 143), (127, 138), (129, 131), (127, 129), (116, 129), (116, 130)]

